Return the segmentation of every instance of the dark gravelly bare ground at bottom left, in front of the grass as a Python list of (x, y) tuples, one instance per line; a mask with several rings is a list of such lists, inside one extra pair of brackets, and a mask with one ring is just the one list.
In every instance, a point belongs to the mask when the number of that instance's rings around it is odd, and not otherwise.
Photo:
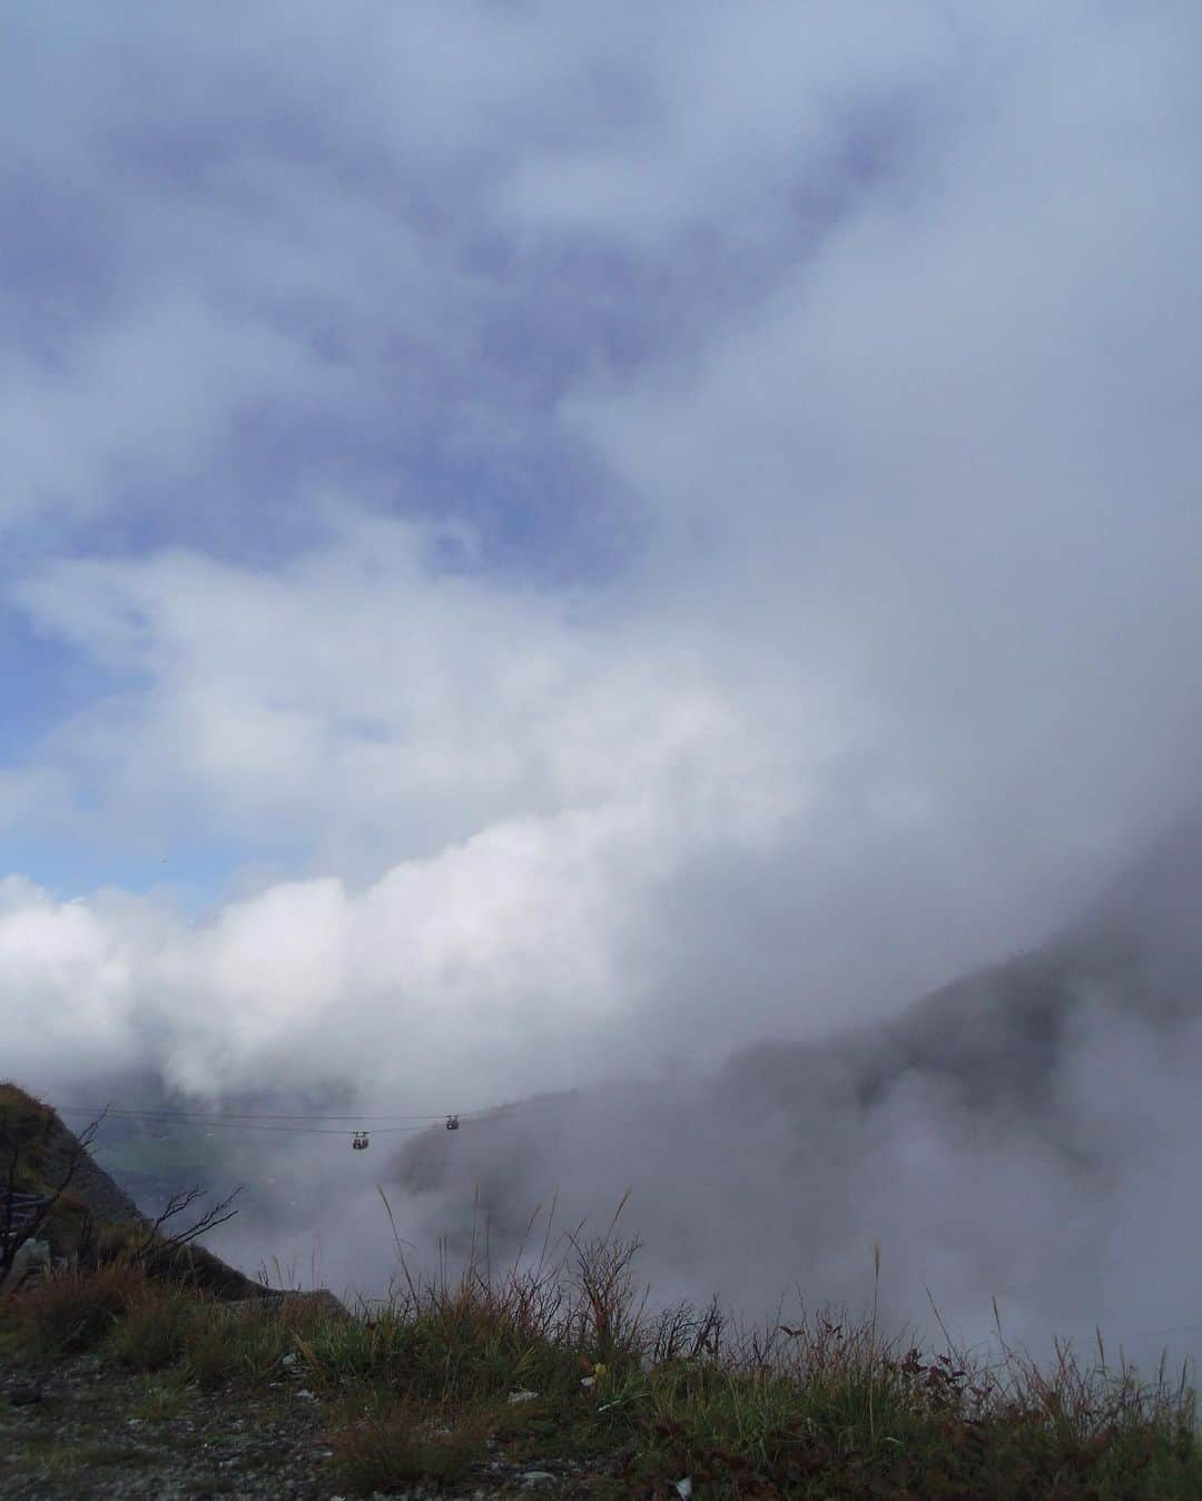
[[(0, 1496), (333, 1501), (347, 1492), (327, 1427), (323, 1400), (288, 1370), (254, 1391), (200, 1391), (95, 1355), (53, 1367), (9, 1364), (0, 1369)], [(389, 1498), (617, 1493), (581, 1460), (488, 1457), (458, 1484)]]

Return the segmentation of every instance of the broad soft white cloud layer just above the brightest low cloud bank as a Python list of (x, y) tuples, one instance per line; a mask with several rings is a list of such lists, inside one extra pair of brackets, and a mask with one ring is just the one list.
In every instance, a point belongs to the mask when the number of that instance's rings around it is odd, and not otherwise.
[(360, 871), (515, 814), (647, 803), (701, 839), (771, 839), (804, 802), (843, 734), (815, 695), (803, 726), (704, 636), (434, 575), (423, 536), (350, 524), (272, 575), (183, 552), (51, 567), (23, 590), (35, 623), (128, 686), (48, 750), (114, 820)]

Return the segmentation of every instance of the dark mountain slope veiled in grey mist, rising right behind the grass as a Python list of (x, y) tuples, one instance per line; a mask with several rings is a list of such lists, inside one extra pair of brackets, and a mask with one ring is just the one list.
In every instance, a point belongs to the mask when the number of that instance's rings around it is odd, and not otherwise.
[[(1182, 824), (1040, 949), (887, 1022), (776, 1039), (716, 1073), (552, 1096), (393, 1165), (405, 1223), (512, 1253), (539, 1204), (626, 1189), (657, 1292), (744, 1310), (869, 1292), (974, 1339), (1193, 1349), (1202, 1211), (1202, 830)], [(413, 1229), (410, 1231), (413, 1232)], [(1157, 1346), (1158, 1348), (1158, 1346)]]

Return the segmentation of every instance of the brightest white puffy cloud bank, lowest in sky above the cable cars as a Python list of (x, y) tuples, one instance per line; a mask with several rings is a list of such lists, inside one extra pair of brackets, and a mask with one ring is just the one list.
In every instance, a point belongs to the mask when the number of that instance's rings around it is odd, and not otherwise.
[(513, 818), (359, 892), (281, 883), (198, 926), (11, 878), (5, 1067), (65, 1079), (137, 1058), (197, 1094), (317, 1070), (428, 1109), (587, 1082), (645, 1000), (623, 938), (681, 859), (672, 838), (636, 808)]

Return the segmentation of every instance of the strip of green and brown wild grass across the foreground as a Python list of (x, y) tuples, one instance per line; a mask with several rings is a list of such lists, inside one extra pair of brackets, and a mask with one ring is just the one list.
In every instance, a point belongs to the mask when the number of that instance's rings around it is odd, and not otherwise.
[[(303, 1298), (221, 1303), (120, 1258), (60, 1270), (0, 1309), (0, 1355), (95, 1349), (188, 1387), (300, 1372), (323, 1400), (347, 1493), (480, 1484), (485, 1459), (588, 1463), (575, 1493), (677, 1496), (1196, 1498), (1193, 1391), (1104, 1355), (1050, 1370), (972, 1364), (882, 1339), (869, 1316), (815, 1313), (734, 1331), (716, 1306), (650, 1313), (636, 1241), (455, 1277), (402, 1276), (345, 1316)], [(533, 1393), (533, 1394), (531, 1394)], [(519, 1400), (510, 1400), (515, 1394)]]

